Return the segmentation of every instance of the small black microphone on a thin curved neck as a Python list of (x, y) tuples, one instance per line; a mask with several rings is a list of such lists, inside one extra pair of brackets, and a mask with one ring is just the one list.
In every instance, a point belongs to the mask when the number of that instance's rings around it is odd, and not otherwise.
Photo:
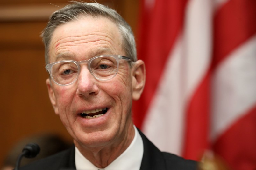
[(22, 153), (19, 155), (16, 166), (14, 170), (19, 169), (20, 160), (23, 156), (26, 158), (34, 158), (40, 152), (40, 147), (36, 143), (28, 143), (22, 150)]

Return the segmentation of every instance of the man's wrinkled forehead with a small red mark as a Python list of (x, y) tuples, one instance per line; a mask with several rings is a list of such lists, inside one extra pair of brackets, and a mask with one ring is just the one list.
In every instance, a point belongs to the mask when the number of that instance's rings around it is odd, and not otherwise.
[(80, 16), (54, 30), (49, 52), (50, 58), (61, 53), (83, 52), (86, 53), (82, 55), (93, 57), (93, 53), (104, 51), (102, 49), (113, 54), (122, 50), (122, 38), (117, 24), (106, 17)]

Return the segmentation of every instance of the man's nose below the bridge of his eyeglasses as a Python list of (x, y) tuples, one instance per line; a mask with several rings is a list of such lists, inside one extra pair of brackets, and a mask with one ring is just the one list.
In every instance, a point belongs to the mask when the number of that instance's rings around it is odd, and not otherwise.
[(80, 74), (77, 79), (77, 95), (89, 97), (99, 92), (97, 80), (93, 77), (87, 67), (81, 67)]

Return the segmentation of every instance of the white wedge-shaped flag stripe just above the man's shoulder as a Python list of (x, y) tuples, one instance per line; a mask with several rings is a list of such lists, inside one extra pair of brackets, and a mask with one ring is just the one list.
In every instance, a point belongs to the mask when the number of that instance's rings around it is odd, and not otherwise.
[(182, 38), (170, 53), (144, 120), (143, 131), (160, 150), (181, 155), (184, 125), (181, 62)]

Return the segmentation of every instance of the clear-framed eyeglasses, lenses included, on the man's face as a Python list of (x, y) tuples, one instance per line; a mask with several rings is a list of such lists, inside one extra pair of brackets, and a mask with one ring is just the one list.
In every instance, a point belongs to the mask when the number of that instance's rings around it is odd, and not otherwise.
[(80, 64), (87, 63), (90, 73), (97, 80), (109, 80), (117, 75), (120, 60), (132, 61), (130, 58), (120, 55), (102, 55), (89, 60), (76, 62), (62, 60), (45, 66), (53, 81), (60, 86), (74, 83), (80, 73)]

